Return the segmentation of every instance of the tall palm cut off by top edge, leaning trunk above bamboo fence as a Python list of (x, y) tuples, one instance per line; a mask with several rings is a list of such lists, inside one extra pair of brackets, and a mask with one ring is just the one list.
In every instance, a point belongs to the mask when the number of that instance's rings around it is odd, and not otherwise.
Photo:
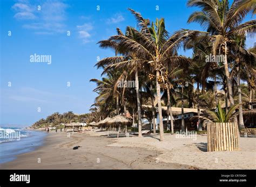
[(255, 2), (253, 0), (233, 1), (232, 5), (227, 0), (205, 1), (189, 0), (188, 6), (198, 6), (201, 11), (196, 11), (188, 18), (188, 23), (198, 22), (210, 33), (208, 38), (213, 40), (212, 52), (220, 54), (222, 47), (225, 56), (224, 68), (227, 82), (228, 96), (231, 105), (234, 105), (232, 82), (228, 70), (228, 48), (232, 45), (232, 37), (236, 34), (253, 35), (255, 32), (255, 20), (242, 23), (245, 16), (253, 11), (255, 13)]

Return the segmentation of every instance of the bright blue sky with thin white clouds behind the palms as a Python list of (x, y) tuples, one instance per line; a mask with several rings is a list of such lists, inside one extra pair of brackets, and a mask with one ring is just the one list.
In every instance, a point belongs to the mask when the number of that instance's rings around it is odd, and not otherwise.
[[(96, 97), (89, 80), (101, 74), (93, 66), (98, 56), (113, 55), (97, 42), (116, 34), (116, 27), (136, 26), (127, 8), (150, 20), (165, 18), (170, 33), (202, 30), (186, 23), (197, 10), (187, 8), (186, 0), (1, 1), (0, 124), (31, 125), (57, 111), (89, 112)], [(253, 46), (253, 39), (247, 44)], [(51, 55), (51, 64), (31, 63), (33, 54)]]

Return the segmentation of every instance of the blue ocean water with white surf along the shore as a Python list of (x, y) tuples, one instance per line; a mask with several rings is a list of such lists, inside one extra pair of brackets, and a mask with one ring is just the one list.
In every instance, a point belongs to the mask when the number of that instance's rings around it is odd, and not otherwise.
[(0, 163), (10, 162), (22, 153), (43, 145), (46, 132), (25, 128), (0, 127)]

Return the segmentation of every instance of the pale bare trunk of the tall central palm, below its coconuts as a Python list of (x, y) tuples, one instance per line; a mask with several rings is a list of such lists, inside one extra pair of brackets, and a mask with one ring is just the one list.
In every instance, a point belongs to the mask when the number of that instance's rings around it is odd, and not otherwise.
[(164, 141), (164, 124), (163, 124), (163, 116), (162, 116), (162, 106), (161, 106), (161, 93), (160, 93), (160, 85), (158, 83), (158, 78), (160, 74), (157, 71), (157, 107), (159, 114), (159, 132), (160, 132), (160, 141)]

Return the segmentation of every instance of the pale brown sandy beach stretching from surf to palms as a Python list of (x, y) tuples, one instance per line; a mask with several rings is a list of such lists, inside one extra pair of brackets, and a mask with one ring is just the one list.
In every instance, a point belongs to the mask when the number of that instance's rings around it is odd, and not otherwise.
[[(114, 132), (113, 132), (114, 133)], [(207, 136), (121, 136), (51, 132), (44, 146), (0, 164), (1, 169), (256, 169), (256, 139), (240, 138), (239, 152), (207, 152)], [(73, 150), (74, 146), (82, 146)]]

